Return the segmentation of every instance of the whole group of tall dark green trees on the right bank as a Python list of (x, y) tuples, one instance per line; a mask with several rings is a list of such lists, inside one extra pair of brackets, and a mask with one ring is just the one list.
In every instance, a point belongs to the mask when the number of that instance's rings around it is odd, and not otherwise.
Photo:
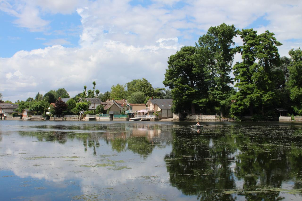
[[(242, 46), (235, 46), (237, 36)], [(173, 112), (236, 118), (269, 116), (282, 107), (302, 115), (302, 51), (280, 57), (281, 45), (269, 31), (257, 34), (225, 23), (210, 27), (195, 46), (183, 46), (168, 59), (163, 84), (171, 89)], [(236, 53), (242, 61), (232, 67)]]

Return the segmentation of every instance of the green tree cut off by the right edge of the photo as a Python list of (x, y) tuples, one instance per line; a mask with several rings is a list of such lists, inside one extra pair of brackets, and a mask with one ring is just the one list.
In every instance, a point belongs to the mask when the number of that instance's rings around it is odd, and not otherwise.
[(297, 114), (302, 115), (302, 50), (300, 48), (291, 49), (289, 55), (292, 63), (288, 67), (289, 79), (287, 85), (290, 98), (294, 102), (292, 108)]

